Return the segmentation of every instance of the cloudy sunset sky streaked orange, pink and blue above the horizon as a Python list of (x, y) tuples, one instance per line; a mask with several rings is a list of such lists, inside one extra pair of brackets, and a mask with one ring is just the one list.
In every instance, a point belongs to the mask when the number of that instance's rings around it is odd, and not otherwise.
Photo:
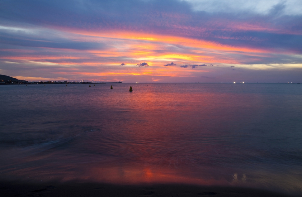
[(301, 82), (301, 0), (2, 0), (0, 74)]

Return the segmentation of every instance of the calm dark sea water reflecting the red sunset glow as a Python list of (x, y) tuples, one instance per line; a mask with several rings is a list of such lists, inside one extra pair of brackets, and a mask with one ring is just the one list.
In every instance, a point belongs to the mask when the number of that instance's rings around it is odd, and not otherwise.
[(1, 85), (0, 95), (2, 180), (302, 193), (302, 84)]

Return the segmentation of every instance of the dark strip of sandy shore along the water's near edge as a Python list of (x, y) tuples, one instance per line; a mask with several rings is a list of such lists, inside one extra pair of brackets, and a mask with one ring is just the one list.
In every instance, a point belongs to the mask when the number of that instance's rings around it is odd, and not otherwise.
[(289, 197), (280, 193), (240, 187), (197, 186), (181, 184), (112, 185), (102, 183), (35, 183), (0, 182), (0, 196), (226, 196)]

